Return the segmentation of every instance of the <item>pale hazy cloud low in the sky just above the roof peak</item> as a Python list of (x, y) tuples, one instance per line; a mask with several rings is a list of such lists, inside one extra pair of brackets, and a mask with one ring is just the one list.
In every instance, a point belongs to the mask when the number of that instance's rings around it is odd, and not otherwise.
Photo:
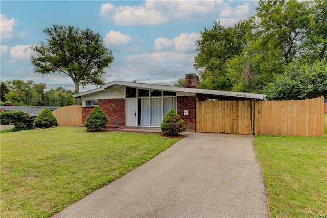
[[(172, 85), (186, 73), (194, 73), (194, 56), (175, 52), (154, 52), (127, 56), (108, 70), (109, 81), (133, 81)], [(112, 74), (114, 72), (114, 74)]]

